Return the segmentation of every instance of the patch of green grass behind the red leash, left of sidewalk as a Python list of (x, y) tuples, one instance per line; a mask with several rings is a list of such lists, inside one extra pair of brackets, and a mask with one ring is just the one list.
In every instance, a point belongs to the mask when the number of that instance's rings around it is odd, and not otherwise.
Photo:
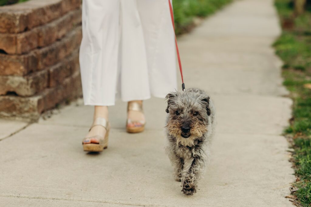
[(193, 25), (194, 17), (213, 14), (232, 0), (173, 0), (175, 33), (187, 32)]

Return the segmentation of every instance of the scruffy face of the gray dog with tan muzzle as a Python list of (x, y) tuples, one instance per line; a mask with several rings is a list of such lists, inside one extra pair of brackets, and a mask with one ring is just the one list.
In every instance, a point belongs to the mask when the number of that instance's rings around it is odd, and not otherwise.
[(211, 114), (209, 96), (200, 90), (188, 90), (169, 93), (166, 99), (169, 135), (176, 137), (177, 144), (193, 145), (207, 131), (207, 118)]

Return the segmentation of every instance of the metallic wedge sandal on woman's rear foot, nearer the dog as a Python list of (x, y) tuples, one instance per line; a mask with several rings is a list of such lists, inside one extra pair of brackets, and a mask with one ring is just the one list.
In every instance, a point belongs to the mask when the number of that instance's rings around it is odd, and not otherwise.
[[(137, 102), (129, 102), (128, 111), (138, 111), (143, 113), (142, 104), (138, 104)], [(129, 133), (142, 132), (145, 129), (145, 124), (145, 121), (132, 121), (128, 118), (126, 122), (126, 131)]]

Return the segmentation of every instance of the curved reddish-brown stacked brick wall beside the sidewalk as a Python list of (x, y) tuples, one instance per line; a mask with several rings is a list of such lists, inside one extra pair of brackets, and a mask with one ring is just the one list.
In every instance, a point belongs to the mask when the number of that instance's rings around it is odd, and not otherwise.
[(0, 7), (0, 117), (38, 120), (81, 96), (81, 0)]

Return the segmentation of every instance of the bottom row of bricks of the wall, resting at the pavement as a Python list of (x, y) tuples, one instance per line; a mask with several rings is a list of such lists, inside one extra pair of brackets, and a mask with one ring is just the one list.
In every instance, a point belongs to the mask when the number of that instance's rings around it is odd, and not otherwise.
[(65, 100), (77, 99), (82, 95), (80, 72), (66, 78), (62, 85), (48, 88), (32, 97), (14, 95), (0, 96), (0, 117), (19, 117), (37, 121), (40, 114)]

